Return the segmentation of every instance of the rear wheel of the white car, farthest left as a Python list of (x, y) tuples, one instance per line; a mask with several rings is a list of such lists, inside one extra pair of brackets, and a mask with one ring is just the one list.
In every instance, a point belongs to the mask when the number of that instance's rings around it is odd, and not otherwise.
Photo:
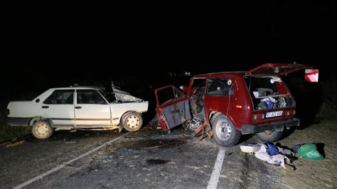
[(53, 127), (48, 121), (36, 121), (31, 128), (31, 133), (36, 139), (48, 139), (53, 134)]

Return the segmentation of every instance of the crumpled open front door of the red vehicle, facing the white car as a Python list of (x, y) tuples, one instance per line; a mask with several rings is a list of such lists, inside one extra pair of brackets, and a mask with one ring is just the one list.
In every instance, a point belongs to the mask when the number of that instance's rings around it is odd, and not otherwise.
[(191, 119), (188, 97), (172, 85), (155, 90), (156, 116), (166, 131)]

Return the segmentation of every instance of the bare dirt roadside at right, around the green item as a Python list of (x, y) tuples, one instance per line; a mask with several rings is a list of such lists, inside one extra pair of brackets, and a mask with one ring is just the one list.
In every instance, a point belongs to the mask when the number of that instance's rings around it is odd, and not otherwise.
[[(336, 188), (337, 187), (337, 121), (324, 121), (306, 129), (295, 130), (279, 141), (292, 148), (296, 144), (315, 143), (325, 156), (323, 160), (299, 158), (294, 161), (296, 171), (279, 169), (282, 188)], [(323, 150), (323, 151), (322, 151)], [(324, 154), (325, 153), (325, 154)]]

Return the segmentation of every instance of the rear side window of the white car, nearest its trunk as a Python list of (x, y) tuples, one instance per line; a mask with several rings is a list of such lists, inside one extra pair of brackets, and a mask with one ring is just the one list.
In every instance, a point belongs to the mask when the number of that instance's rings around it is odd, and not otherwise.
[(55, 90), (43, 104), (74, 104), (74, 90)]

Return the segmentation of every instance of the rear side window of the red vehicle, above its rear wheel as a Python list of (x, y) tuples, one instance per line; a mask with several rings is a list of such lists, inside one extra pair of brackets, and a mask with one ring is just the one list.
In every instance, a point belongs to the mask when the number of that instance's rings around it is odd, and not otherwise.
[(232, 80), (228, 78), (215, 78), (207, 80), (207, 95), (232, 95)]

